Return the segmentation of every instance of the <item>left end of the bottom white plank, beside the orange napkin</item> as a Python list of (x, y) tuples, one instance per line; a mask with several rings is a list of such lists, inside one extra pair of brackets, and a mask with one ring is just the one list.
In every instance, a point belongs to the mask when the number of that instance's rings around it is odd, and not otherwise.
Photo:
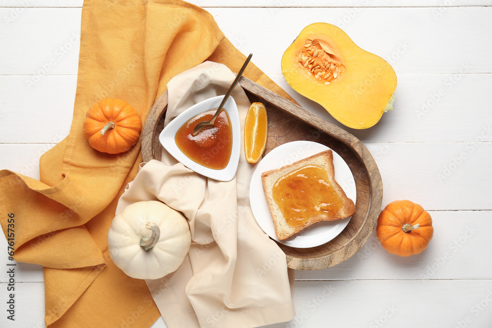
[(43, 283), (15, 283), (14, 293), (14, 321), (7, 319), (10, 314), (7, 301), (10, 301), (8, 284), (0, 283), (0, 303), (2, 313), (0, 316), (0, 327), (22, 327), (22, 328), (42, 328), (44, 324), (44, 284)]

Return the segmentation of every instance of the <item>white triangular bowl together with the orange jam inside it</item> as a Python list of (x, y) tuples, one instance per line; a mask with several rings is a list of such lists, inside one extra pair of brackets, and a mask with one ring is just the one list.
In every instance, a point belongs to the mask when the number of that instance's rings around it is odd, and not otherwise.
[(201, 121), (212, 119), (223, 96), (201, 101), (167, 124), (159, 142), (176, 160), (205, 177), (230, 181), (236, 175), (241, 150), (241, 124), (236, 102), (227, 99), (215, 127), (192, 135)]

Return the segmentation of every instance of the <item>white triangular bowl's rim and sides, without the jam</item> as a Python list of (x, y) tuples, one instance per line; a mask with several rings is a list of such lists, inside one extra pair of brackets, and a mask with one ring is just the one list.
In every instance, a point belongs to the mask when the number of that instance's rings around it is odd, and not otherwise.
[(184, 125), (184, 123), (200, 113), (217, 108), (223, 98), (223, 95), (208, 98), (186, 109), (164, 127), (162, 132), (159, 134), (159, 142), (164, 149), (166, 149), (174, 158), (176, 158), (176, 160), (181, 162), (188, 169), (211, 179), (218, 181), (230, 181), (236, 176), (236, 171), (239, 164), (239, 154), (241, 151), (241, 123), (239, 120), (238, 106), (232, 96), (227, 99), (224, 105), (224, 110), (229, 115), (232, 126), (231, 158), (224, 169), (214, 170), (192, 161), (178, 148), (178, 145), (176, 145), (176, 141), (174, 140), (176, 133), (180, 127)]

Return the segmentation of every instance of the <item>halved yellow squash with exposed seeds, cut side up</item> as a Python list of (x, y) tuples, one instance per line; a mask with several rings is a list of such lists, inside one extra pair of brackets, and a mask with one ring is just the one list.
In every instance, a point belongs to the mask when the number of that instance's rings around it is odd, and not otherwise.
[(354, 129), (373, 126), (393, 109), (393, 68), (331, 24), (314, 23), (301, 31), (283, 54), (282, 74), (292, 89)]

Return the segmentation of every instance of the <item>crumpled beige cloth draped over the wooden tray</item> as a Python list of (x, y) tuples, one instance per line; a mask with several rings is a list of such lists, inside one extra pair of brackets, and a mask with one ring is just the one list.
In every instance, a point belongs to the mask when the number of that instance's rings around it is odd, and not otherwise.
[[(234, 78), (225, 65), (211, 61), (174, 77), (167, 85), (165, 123), (199, 101), (225, 94)], [(243, 129), (249, 100), (239, 85), (232, 97)], [(143, 165), (121, 196), (117, 214), (134, 202), (159, 200), (188, 220), (192, 245), (181, 267), (146, 280), (168, 327), (257, 327), (294, 317), (294, 271), (249, 206), (254, 168), (242, 151), (236, 178), (219, 182), (192, 172), (163, 149), (161, 162)]]

